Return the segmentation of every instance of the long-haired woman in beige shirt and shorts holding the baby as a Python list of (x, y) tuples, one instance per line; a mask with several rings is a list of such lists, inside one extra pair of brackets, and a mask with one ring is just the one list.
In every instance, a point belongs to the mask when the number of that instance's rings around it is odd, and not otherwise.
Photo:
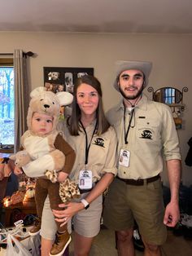
[[(62, 130), (64, 138), (76, 152), (70, 178), (79, 184), (81, 198), (68, 205), (59, 205), (66, 210), (53, 210), (53, 213), (61, 225), (72, 218), (74, 254), (83, 256), (89, 254), (94, 236), (98, 235), (103, 192), (116, 174), (116, 132), (104, 116), (102, 90), (97, 78), (88, 75), (77, 78), (72, 116), (63, 124)], [(51, 230), (47, 228), (50, 227), (48, 214), (50, 212), (45, 207), (42, 251), (50, 246), (46, 239), (46, 232)]]

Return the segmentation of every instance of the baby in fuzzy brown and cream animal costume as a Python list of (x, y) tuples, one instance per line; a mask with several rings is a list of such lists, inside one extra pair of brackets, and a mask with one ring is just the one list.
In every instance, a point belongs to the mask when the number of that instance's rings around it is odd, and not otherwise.
[[(59, 210), (59, 204), (62, 203), (59, 183), (66, 180), (75, 161), (75, 152), (56, 130), (60, 105), (71, 104), (72, 96), (67, 92), (55, 95), (42, 88), (44, 87), (38, 87), (31, 93), (27, 117), (28, 130), (21, 137), (23, 151), (11, 157), (14, 160), (16, 158), (15, 174), (20, 174), (21, 170), (18, 167), (22, 167), (28, 177), (37, 178), (35, 200), (38, 218), (29, 232), (32, 236), (40, 232), (41, 215), (47, 195), (50, 199), (50, 208)], [(46, 172), (51, 171), (59, 171), (55, 183), (46, 179)], [(71, 241), (67, 224), (63, 227), (60, 227), (60, 223), (56, 224), (58, 232), (50, 255), (62, 255)]]

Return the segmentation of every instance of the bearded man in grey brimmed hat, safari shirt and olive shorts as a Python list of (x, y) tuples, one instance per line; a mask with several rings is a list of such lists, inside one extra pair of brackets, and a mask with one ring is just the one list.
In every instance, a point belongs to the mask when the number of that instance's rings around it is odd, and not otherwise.
[[(104, 224), (116, 231), (120, 256), (133, 256), (133, 225), (137, 222), (145, 256), (159, 256), (166, 226), (179, 219), (178, 188), (181, 155), (171, 109), (146, 98), (142, 90), (151, 62), (118, 61), (114, 86), (123, 97), (107, 113), (118, 137), (118, 174), (109, 188)], [(168, 169), (171, 201), (164, 211), (159, 174), (163, 157)]]

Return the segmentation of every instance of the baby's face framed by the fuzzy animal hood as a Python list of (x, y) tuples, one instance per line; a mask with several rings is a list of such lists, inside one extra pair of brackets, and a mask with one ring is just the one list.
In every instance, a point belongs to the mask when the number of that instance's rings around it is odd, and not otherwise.
[(53, 117), (35, 112), (32, 117), (32, 130), (36, 135), (46, 135), (53, 129)]

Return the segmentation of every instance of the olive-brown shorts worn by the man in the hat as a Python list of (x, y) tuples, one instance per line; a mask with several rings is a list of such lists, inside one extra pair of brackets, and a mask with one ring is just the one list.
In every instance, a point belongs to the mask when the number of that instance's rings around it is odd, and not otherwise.
[(164, 244), (167, 228), (163, 223), (164, 201), (160, 180), (133, 186), (114, 179), (105, 199), (103, 220), (108, 228), (115, 231), (133, 227), (136, 220), (147, 243)]

